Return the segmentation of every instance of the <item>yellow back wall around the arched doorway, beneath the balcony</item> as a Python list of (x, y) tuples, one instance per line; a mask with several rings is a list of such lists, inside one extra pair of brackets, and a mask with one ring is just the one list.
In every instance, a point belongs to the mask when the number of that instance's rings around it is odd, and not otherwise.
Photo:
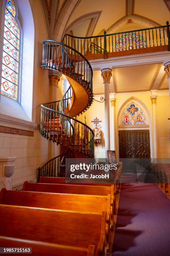
[[(104, 96), (104, 95), (101, 95)], [(150, 100), (150, 92), (145, 93), (126, 93), (126, 94), (116, 94), (116, 105), (115, 105), (115, 136), (116, 136), (116, 155), (118, 156), (118, 114), (122, 109), (122, 105), (131, 97), (137, 100), (139, 103), (145, 105), (148, 109), (149, 114), (149, 125), (150, 125), (150, 147), (151, 147), (151, 157), (153, 157), (153, 118), (152, 118), (152, 103)], [(100, 100), (100, 97), (95, 99)], [(110, 106), (111, 108), (111, 106)], [(157, 135), (158, 135), (158, 158), (169, 158), (170, 157), (170, 101), (168, 92), (159, 92), (157, 97)], [(104, 103), (99, 103), (94, 101), (89, 110), (80, 116), (79, 120), (84, 121), (84, 116), (86, 116), (87, 125), (94, 128), (91, 121), (97, 117), (102, 121), (100, 123), (102, 127), (102, 135), (105, 135), (105, 115), (104, 115)], [(105, 143), (104, 138), (102, 138), (102, 143), (95, 146), (95, 157), (104, 158), (105, 156)]]

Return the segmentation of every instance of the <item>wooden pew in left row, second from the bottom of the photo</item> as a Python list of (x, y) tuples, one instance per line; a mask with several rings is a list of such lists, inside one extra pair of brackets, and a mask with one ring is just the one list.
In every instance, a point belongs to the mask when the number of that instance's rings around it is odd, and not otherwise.
[(106, 255), (105, 220), (106, 212), (92, 214), (0, 205), (0, 236), (86, 250), (90, 244), (97, 248), (96, 255)]

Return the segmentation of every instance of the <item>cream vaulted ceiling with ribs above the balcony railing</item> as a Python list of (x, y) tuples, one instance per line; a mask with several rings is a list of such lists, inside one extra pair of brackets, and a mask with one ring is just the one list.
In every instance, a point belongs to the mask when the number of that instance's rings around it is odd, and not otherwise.
[(115, 33), (161, 26), (169, 18), (170, 0), (81, 0), (67, 23), (66, 32), (95, 36), (104, 30)]

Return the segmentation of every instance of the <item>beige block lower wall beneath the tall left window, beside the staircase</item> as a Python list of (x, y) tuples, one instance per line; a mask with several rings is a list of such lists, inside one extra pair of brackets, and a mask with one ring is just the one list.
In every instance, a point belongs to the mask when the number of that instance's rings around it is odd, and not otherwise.
[(26, 180), (35, 180), (37, 168), (53, 157), (50, 143), (38, 131), (34, 131), (34, 137), (0, 133), (0, 157), (8, 156), (17, 157), (12, 177), (13, 187)]

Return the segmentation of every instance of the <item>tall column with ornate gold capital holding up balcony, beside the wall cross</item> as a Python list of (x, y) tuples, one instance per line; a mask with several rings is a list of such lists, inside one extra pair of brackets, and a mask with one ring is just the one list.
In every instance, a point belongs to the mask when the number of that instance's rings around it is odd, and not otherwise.
[(110, 77), (112, 69), (101, 69), (103, 84), (105, 87), (105, 158), (107, 158), (107, 150), (110, 150)]

